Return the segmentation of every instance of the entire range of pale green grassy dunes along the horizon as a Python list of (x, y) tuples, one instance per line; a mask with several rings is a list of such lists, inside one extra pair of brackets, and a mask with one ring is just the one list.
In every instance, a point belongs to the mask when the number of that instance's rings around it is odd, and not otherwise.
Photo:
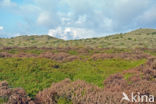
[(0, 39), (1, 47), (99, 47), (99, 48), (155, 48), (156, 29), (138, 29), (128, 33), (101, 38), (61, 40), (48, 35), (19, 36)]

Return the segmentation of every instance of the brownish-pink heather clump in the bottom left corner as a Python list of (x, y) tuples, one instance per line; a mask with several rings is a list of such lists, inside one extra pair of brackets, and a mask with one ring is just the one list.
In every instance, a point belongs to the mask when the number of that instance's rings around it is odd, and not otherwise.
[(0, 103), (34, 104), (23, 89), (9, 88), (6, 81), (0, 82)]

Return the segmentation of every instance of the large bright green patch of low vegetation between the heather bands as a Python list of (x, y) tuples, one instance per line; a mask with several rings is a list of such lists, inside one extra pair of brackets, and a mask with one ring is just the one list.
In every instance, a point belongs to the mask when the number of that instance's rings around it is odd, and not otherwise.
[[(22, 87), (33, 97), (54, 82), (65, 78), (85, 80), (103, 87), (111, 74), (134, 68), (146, 60), (75, 60), (59, 63), (44, 58), (0, 58), (0, 80), (7, 80), (11, 87)], [(59, 68), (54, 68), (58, 65)]]

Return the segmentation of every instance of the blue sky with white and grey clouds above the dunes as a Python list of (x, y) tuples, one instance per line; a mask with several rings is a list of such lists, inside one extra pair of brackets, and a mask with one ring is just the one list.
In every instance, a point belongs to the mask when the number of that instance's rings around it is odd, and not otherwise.
[(156, 0), (0, 0), (0, 37), (70, 40), (156, 28)]

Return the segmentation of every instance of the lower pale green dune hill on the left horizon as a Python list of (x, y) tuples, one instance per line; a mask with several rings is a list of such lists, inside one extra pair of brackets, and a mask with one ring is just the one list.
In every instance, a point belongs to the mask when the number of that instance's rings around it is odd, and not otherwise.
[(0, 46), (2, 47), (56, 47), (64, 40), (57, 39), (48, 35), (32, 35), (32, 36), (18, 36), (13, 38), (0, 39)]

